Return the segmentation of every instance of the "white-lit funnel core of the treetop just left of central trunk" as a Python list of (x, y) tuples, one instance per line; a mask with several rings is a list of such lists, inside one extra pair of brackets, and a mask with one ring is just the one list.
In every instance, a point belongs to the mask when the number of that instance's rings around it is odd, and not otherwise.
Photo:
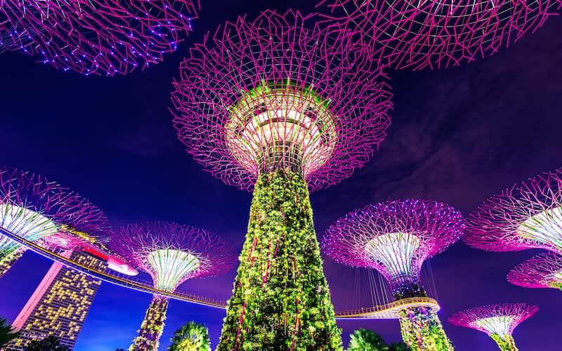
[(156, 250), (147, 259), (156, 274), (155, 286), (166, 291), (174, 291), (179, 282), (200, 267), (199, 258), (188, 251)]

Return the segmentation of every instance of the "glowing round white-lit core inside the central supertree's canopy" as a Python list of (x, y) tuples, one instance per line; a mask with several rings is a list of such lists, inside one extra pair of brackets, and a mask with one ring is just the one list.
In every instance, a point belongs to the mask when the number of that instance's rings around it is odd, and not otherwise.
[(327, 102), (291, 86), (245, 93), (225, 128), (230, 152), (249, 170), (290, 165), (308, 174), (325, 164), (337, 142)]

